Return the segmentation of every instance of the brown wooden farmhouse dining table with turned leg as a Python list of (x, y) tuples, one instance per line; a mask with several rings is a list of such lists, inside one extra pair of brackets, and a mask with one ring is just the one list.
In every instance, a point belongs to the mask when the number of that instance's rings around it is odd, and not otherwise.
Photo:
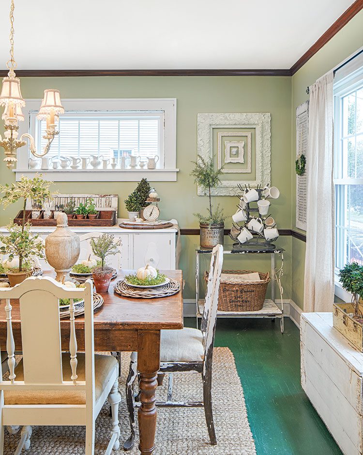
[[(160, 330), (183, 328), (183, 299), (181, 270), (163, 273), (179, 281), (181, 291), (170, 297), (133, 299), (121, 297), (113, 291), (114, 284), (130, 271), (123, 270), (111, 281), (109, 291), (102, 294), (103, 306), (94, 313), (94, 350), (137, 351), (137, 368), (140, 373), (140, 402), (138, 410), (139, 450), (142, 455), (155, 449), (157, 373), (160, 368)], [(43, 276), (54, 276), (45, 272)], [(11, 302), (15, 350), (21, 351), (19, 303)], [(44, 321), (46, 324), (46, 321)], [(84, 318), (76, 317), (78, 350), (84, 349)], [(62, 349), (69, 350), (70, 322), (61, 320)], [(0, 305), (0, 346), (6, 346), (6, 316), (3, 302)], [(127, 418), (127, 416), (125, 416)]]

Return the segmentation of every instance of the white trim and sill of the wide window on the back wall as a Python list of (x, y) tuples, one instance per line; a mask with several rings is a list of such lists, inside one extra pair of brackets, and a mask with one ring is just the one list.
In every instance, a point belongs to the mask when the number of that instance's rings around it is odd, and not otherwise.
[[(23, 109), (24, 122), (19, 122), (19, 136), (30, 132), (35, 137), (35, 116), (32, 112), (38, 111), (41, 99), (26, 99)], [(87, 99), (62, 99), (66, 111), (164, 111), (164, 137), (163, 169), (67, 169), (67, 170), (42, 170), (29, 169), (29, 145), (17, 150), (16, 180), (22, 175), (33, 177), (37, 172), (42, 172), (45, 179), (53, 181), (139, 181), (143, 177), (151, 181), (176, 181), (176, 98), (87, 98)]]

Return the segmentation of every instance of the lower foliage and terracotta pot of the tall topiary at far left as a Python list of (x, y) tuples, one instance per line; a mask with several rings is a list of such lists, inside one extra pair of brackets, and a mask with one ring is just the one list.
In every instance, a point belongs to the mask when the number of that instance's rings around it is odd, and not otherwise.
[(44, 259), (42, 239), (39, 234), (32, 234), (30, 227), (30, 223), (26, 223), (24, 227), (11, 223), (7, 226), (9, 234), (0, 235), (0, 253), (9, 255), (5, 266), (11, 267), (6, 274), (12, 287), (31, 275), (34, 257)]

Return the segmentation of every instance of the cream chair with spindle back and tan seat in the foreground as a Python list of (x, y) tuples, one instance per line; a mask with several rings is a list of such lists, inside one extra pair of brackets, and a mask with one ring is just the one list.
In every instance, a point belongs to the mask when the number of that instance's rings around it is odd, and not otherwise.
[[(60, 298), (70, 299), (68, 353), (62, 353)], [(84, 354), (77, 354), (76, 298), (85, 300)], [(0, 289), (0, 299), (5, 299), (10, 371), (9, 380), (0, 381), (0, 455), (6, 425), (23, 425), (16, 455), (30, 448), (30, 425), (85, 425), (85, 454), (93, 455), (95, 420), (106, 398), (112, 408), (106, 455), (120, 447), (118, 364), (112, 356), (94, 355), (92, 298), (90, 280), (85, 288), (76, 289), (53, 278), (30, 277), (14, 288)], [(20, 302), (23, 358), (16, 367), (10, 299)]]

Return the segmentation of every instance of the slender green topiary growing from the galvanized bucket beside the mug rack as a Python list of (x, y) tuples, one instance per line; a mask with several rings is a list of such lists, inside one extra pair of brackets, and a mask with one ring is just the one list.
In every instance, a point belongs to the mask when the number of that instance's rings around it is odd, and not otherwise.
[(221, 225), (225, 222), (227, 216), (224, 215), (223, 209), (220, 208), (219, 204), (213, 210), (212, 188), (216, 188), (221, 183), (220, 176), (223, 167), (214, 169), (213, 157), (205, 159), (199, 154), (197, 161), (192, 161), (192, 163), (194, 164), (194, 169), (190, 175), (194, 177), (194, 183), (197, 183), (198, 186), (208, 192), (209, 197), (208, 214), (202, 215), (200, 213), (194, 213), (194, 215), (198, 218), (199, 223), (208, 224), (210, 226)]

